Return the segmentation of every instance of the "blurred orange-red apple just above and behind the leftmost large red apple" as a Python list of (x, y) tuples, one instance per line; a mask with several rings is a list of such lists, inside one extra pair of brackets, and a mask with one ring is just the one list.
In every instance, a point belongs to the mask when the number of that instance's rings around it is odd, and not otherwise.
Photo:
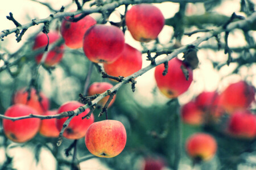
[(49, 99), (42, 92), (39, 92), (39, 95), (42, 98), (41, 103), (39, 102), (38, 95), (36, 95), (36, 90), (31, 88), (30, 100), (27, 100), (28, 92), (26, 88), (21, 88), (14, 94), (13, 103), (29, 105), (38, 111), (39, 114), (44, 114), (49, 109)]

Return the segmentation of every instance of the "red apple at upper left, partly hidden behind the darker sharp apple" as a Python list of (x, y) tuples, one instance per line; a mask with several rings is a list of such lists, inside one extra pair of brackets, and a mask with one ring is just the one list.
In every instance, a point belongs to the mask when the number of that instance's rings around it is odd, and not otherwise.
[[(78, 16), (79, 15), (76, 15), (75, 17)], [(69, 18), (70, 16), (67, 16), (66, 19)], [(89, 15), (86, 15), (78, 22), (69, 22), (68, 20), (63, 19), (60, 26), (60, 33), (65, 40), (65, 44), (72, 49), (81, 48), (85, 32), (96, 23), (96, 20)]]

